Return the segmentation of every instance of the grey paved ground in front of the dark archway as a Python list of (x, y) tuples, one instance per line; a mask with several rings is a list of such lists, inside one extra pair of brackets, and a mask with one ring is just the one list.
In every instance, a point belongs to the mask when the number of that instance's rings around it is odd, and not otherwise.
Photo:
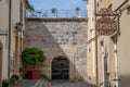
[(68, 80), (52, 80), (48, 87), (92, 87), (83, 82), (70, 83)]

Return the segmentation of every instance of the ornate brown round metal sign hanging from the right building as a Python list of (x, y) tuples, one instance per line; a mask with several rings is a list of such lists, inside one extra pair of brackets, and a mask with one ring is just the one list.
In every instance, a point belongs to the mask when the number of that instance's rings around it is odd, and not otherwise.
[(118, 14), (112, 12), (110, 9), (101, 9), (95, 15), (98, 17), (95, 25), (98, 34), (109, 36), (119, 30)]

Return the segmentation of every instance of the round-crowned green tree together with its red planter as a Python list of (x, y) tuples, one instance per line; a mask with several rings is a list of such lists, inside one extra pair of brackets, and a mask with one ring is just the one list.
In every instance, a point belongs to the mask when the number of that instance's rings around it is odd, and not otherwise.
[(46, 60), (46, 55), (42, 50), (38, 48), (26, 48), (22, 52), (22, 61), (26, 66), (34, 66), (32, 71), (27, 71), (25, 77), (27, 78), (39, 78), (40, 72), (35, 71), (36, 64), (43, 62)]

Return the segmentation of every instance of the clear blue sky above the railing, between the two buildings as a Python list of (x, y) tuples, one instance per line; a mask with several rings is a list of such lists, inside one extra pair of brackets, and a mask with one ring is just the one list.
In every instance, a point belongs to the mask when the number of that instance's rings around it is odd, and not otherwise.
[(28, 0), (36, 10), (75, 10), (77, 7), (80, 10), (87, 10), (87, 2), (83, 0)]

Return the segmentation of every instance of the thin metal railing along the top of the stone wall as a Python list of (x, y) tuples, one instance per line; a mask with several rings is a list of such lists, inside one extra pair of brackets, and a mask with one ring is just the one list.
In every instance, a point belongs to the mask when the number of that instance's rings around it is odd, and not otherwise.
[(26, 17), (87, 17), (87, 10), (57, 10), (52, 13), (51, 10), (26, 11)]

